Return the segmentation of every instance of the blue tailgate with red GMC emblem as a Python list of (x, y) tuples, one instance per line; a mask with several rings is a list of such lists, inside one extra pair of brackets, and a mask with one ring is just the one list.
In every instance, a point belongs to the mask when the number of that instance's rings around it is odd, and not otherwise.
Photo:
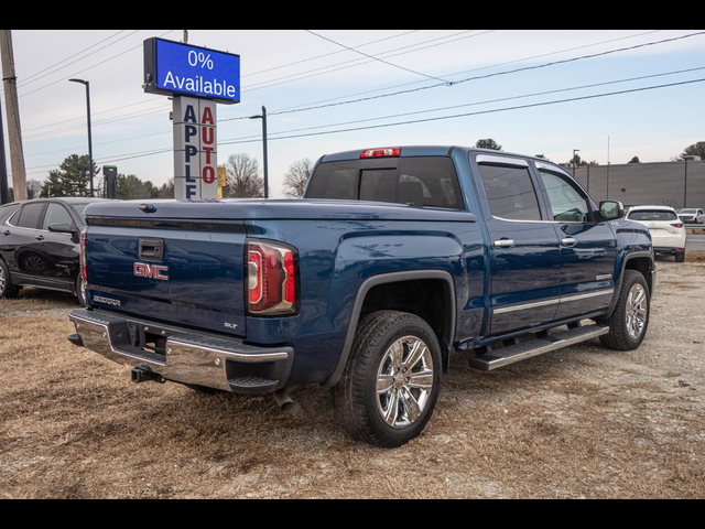
[[(88, 217), (94, 307), (246, 335), (242, 222)], [(112, 212), (111, 212), (112, 213)]]

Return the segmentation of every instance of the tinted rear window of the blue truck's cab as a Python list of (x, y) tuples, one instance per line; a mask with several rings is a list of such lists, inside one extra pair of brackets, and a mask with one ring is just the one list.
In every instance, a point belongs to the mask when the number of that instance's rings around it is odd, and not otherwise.
[(448, 158), (323, 163), (311, 179), (306, 198), (465, 209)]

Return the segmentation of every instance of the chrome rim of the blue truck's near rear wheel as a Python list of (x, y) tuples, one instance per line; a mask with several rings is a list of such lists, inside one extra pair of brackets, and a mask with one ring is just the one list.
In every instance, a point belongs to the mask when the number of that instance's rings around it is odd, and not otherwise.
[(413, 425), (429, 406), (434, 384), (433, 356), (415, 336), (395, 342), (384, 354), (377, 376), (377, 409), (395, 430)]

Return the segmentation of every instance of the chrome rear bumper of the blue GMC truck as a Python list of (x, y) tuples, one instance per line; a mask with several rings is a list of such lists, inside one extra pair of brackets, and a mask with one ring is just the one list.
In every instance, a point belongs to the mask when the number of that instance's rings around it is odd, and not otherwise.
[[(115, 363), (148, 368), (165, 380), (187, 386), (246, 395), (272, 393), (286, 387), (294, 359), (291, 347), (254, 347), (236, 338), (104, 311), (75, 311), (69, 320), (77, 333), (70, 337), (72, 343), (83, 344)], [(147, 344), (135, 344), (140, 341), (160, 342), (162, 347), (150, 350), (143, 347)]]

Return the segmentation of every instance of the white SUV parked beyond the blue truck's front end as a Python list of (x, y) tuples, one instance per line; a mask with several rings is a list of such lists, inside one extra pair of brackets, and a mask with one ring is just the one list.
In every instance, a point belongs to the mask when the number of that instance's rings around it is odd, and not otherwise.
[(675, 256), (676, 262), (685, 262), (687, 231), (675, 209), (668, 206), (632, 207), (627, 218), (649, 228), (657, 253)]

